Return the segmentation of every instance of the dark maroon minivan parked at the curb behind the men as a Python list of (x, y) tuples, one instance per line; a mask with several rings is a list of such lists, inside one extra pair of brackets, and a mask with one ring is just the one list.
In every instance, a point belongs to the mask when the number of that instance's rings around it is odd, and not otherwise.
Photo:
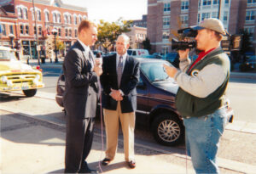
[[(137, 123), (147, 126), (158, 143), (167, 146), (182, 143), (183, 119), (178, 114), (174, 101), (177, 82), (167, 76), (163, 69), (163, 64), (172, 65), (161, 59), (137, 59), (141, 63), (137, 85)], [(56, 102), (61, 107), (63, 107), (64, 83), (65, 77), (61, 74), (56, 90)]]

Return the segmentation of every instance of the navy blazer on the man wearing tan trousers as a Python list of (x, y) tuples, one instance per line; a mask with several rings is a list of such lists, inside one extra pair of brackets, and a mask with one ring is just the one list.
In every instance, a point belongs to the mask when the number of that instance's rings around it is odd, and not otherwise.
[(102, 107), (105, 109), (117, 109), (117, 101), (115, 101), (109, 93), (111, 88), (122, 90), (125, 94), (120, 102), (122, 113), (134, 112), (137, 109), (137, 83), (139, 81), (139, 62), (127, 56), (125, 67), (123, 70), (120, 87), (118, 87), (117, 71), (116, 71), (116, 54), (103, 59), (101, 83), (103, 87)]

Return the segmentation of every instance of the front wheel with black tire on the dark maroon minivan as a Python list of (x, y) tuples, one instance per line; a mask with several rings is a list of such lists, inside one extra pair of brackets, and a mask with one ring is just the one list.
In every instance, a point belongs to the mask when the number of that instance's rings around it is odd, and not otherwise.
[(167, 112), (154, 119), (152, 131), (155, 141), (166, 146), (177, 145), (184, 138), (183, 121)]

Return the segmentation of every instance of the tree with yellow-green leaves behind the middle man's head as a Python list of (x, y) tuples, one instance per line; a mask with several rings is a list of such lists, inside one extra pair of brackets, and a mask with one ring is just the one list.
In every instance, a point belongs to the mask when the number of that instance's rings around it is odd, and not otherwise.
[(131, 31), (131, 23), (132, 20), (122, 20), (122, 18), (112, 23), (100, 20), (100, 24), (98, 25), (98, 41), (96, 44), (102, 45), (105, 51), (108, 48), (113, 48), (120, 34)]

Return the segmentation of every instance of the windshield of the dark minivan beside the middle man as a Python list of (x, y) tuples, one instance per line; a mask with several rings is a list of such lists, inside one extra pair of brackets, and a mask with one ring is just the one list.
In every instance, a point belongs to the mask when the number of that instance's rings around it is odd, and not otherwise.
[(166, 61), (145, 62), (142, 63), (141, 70), (143, 71), (143, 74), (147, 76), (148, 80), (151, 82), (166, 81), (167, 79), (169, 79), (169, 76), (166, 74), (163, 64), (172, 66), (170, 63)]

